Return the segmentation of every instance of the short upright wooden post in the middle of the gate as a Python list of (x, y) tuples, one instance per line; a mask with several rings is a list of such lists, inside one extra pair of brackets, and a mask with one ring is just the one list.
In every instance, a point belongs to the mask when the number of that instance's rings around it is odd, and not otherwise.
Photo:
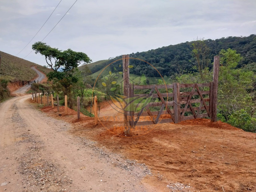
[(174, 109), (174, 123), (179, 123), (181, 121), (180, 119), (180, 102), (179, 102), (179, 83), (173, 83), (173, 109)]

